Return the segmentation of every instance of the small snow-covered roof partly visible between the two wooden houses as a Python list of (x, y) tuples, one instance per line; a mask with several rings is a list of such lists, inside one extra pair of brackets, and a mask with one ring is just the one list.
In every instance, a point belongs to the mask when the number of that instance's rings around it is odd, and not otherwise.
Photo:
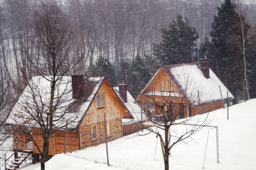
[[(128, 125), (130, 123), (139, 122), (141, 120), (141, 108), (139, 104), (134, 103), (134, 99), (132, 95), (127, 91), (127, 102), (124, 102), (123, 98), (120, 96), (119, 88), (114, 87), (114, 90), (134, 118), (134, 119), (122, 118), (122, 124)], [(142, 119), (145, 120), (145, 114), (142, 114)]]

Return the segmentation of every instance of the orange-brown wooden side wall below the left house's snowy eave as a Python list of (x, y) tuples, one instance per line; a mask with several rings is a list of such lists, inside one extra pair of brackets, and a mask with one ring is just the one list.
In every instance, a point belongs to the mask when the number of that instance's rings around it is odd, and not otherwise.
[[(39, 128), (33, 128), (32, 132), (36, 144), (39, 146), (39, 149), (43, 151), (43, 137), (41, 134), (41, 130)], [(57, 130), (55, 133), (52, 134), (49, 142), (49, 155), (53, 156), (58, 153), (63, 153), (64, 139), (65, 130)], [(68, 131), (66, 152), (76, 150), (79, 150), (79, 136), (76, 134), (76, 132)], [(39, 153), (35, 144), (33, 144), (33, 151), (34, 153)]]

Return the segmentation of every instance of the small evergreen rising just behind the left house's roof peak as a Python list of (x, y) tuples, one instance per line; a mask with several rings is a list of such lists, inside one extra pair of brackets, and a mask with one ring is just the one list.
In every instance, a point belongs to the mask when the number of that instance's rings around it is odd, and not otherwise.
[(90, 72), (92, 76), (105, 76), (112, 87), (117, 85), (115, 68), (108, 59), (99, 57), (95, 65), (92, 65), (91, 68)]

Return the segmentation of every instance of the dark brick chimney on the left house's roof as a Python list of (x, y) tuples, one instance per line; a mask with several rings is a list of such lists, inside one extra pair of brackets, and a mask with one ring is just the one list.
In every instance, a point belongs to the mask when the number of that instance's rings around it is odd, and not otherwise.
[(73, 98), (78, 98), (84, 87), (84, 75), (71, 76), (72, 78), (72, 95)]

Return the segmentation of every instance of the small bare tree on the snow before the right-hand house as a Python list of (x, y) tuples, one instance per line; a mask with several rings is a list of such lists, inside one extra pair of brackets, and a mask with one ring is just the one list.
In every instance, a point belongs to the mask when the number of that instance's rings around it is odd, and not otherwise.
[[(149, 86), (152, 91), (147, 89), (136, 99), (149, 122), (141, 122), (142, 126), (148, 130), (148, 133), (155, 133), (160, 139), (165, 170), (169, 170), (171, 148), (179, 142), (185, 142), (185, 139), (192, 139), (195, 132), (210, 123), (208, 113), (193, 116), (202, 113), (200, 100), (204, 98), (203, 102), (207, 102), (203, 94), (203, 86), (193, 81), (193, 73), (182, 72), (180, 75), (186, 78), (182, 92), (167, 79), (164, 81), (168, 83), (161, 84), (161, 90), (158, 91), (158, 81), (152, 80)], [(184, 125), (184, 130), (178, 131), (175, 125)]]

